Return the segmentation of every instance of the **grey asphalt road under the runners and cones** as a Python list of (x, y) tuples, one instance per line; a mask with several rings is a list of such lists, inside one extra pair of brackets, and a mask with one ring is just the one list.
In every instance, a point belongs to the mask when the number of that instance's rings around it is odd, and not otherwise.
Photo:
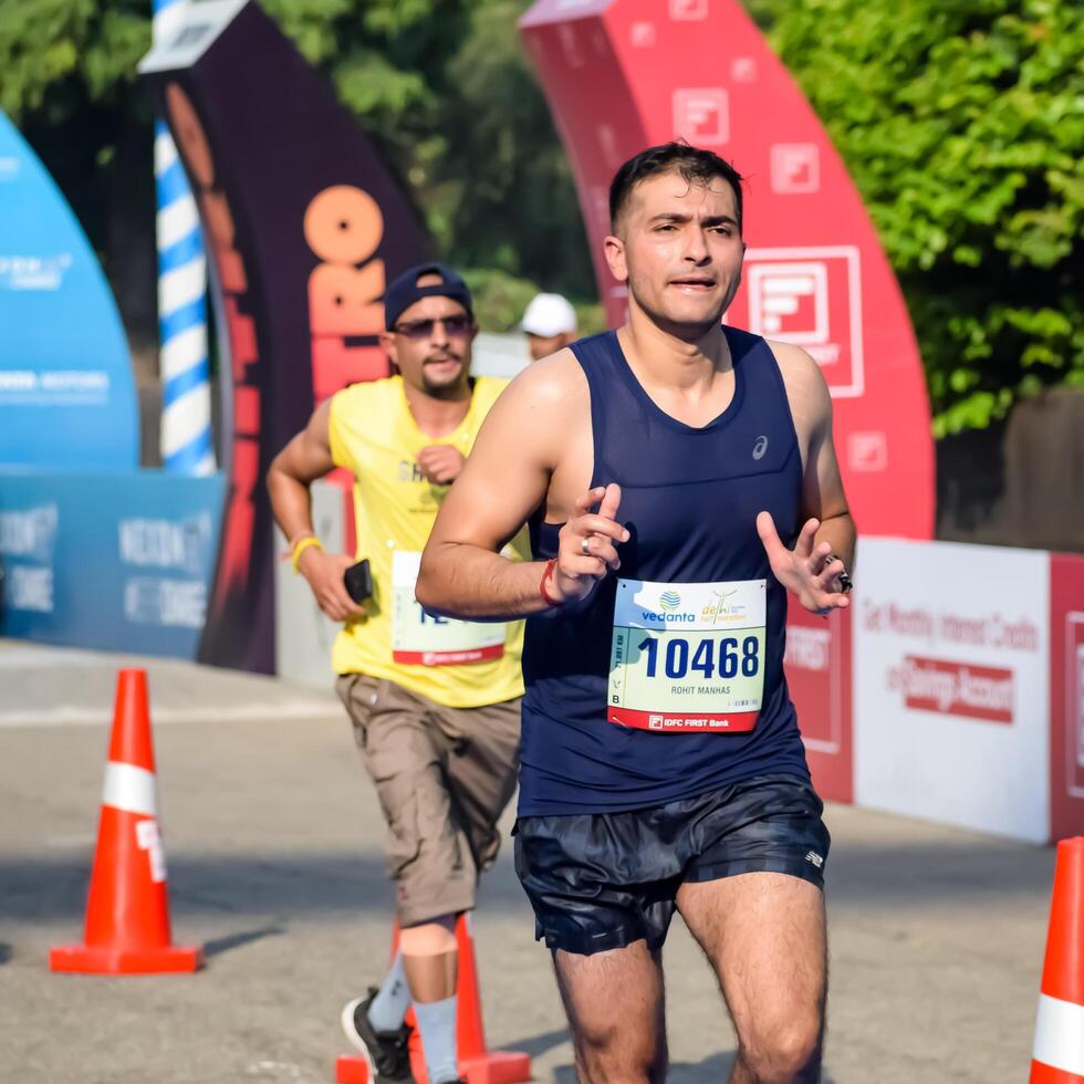
[[(346, 1051), (338, 1011), (379, 977), (392, 895), (379, 810), (330, 694), (142, 660), (174, 939), (202, 942), (207, 965), (177, 977), (48, 969), (50, 946), (81, 937), (124, 661), (0, 640), (0, 1081), (332, 1081)], [(1025, 1080), (1053, 853), (844, 806), (826, 819), (825, 1081)], [(490, 1045), (528, 1051), (535, 1080), (570, 1084), (510, 846), (475, 932)], [(733, 1034), (679, 919), (665, 966), (669, 1080), (725, 1081)]]

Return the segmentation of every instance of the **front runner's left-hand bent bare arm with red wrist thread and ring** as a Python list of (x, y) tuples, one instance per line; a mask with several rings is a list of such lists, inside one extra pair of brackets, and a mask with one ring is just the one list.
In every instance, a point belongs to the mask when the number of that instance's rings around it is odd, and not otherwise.
[[(490, 410), (421, 557), (416, 594), (426, 609), (477, 621), (550, 608), (539, 588), (545, 563), (512, 562), (500, 550), (545, 501), (563, 437), (583, 424), (582, 381), (572, 353), (561, 351), (525, 369)], [(619, 500), (612, 486), (576, 502), (546, 580), (551, 598), (583, 597), (617, 566), (615, 544), (627, 538), (614, 519)]]

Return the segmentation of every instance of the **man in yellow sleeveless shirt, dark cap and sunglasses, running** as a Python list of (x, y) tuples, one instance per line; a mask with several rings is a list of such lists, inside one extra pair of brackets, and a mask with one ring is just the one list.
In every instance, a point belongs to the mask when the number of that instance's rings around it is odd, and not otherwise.
[[(294, 567), (344, 623), (336, 688), (388, 824), (400, 949), (381, 988), (343, 1010), (343, 1026), (378, 1084), (408, 1082), (413, 1003), (427, 1075), (444, 1084), (459, 1077), (456, 919), (497, 856), (515, 786), (522, 624), (432, 617), (414, 584), (437, 509), (505, 382), (468, 375), (477, 326), (455, 271), (413, 268), (388, 284), (384, 308), (397, 375), (322, 403), (271, 463), (268, 487)], [(324, 553), (312, 528), (309, 487), (336, 466), (354, 476), (351, 556)], [(525, 556), (525, 539), (509, 550)], [(362, 560), (373, 591), (355, 602), (344, 573)]]

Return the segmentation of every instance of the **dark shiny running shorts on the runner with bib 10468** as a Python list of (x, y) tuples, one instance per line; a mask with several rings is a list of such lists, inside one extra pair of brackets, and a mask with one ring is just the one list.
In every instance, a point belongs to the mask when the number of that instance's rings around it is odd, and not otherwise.
[(767, 871), (823, 888), (823, 812), (809, 780), (755, 775), (646, 810), (520, 817), (515, 872), (535, 937), (582, 956), (642, 938), (654, 951), (686, 882)]

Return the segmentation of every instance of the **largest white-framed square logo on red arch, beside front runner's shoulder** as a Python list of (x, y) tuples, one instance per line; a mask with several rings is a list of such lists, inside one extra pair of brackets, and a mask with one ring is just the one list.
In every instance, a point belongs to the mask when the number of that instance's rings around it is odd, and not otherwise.
[(857, 248), (749, 249), (744, 279), (747, 326), (753, 334), (807, 351), (833, 397), (857, 398), (864, 393)]

